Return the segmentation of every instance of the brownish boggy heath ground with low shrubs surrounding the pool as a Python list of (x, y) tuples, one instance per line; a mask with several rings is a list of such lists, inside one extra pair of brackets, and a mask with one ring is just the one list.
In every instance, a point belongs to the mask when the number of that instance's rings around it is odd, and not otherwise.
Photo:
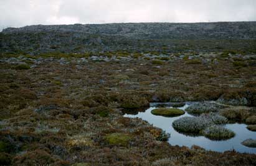
[(255, 107), (254, 55), (11, 56), (0, 62), (2, 165), (256, 164), (255, 154), (171, 146), (160, 129), (123, 117), (149, 102)]

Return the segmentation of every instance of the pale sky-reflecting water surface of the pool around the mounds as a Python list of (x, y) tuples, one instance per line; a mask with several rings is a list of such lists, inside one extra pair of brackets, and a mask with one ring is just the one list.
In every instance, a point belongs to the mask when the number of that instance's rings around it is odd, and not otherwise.
[[(168, 103), (166, 104), (166, 107), (170, 107)], [(191, 102), (187, 102), (184, 107), (179, 107), (179, 109), (184, 110), (190, 104)], [(247, 125), (245, 124), (234, 123), (225, 125), (225, 128), (231, 129), (235, 132), (235, 137), (225, 141), (212, 141), (205, 138), (204, 136), (186, 136), (174, 130), (172, 126), (174, 120), (184, 116), (192, 116), (187, 112), (184, 115), (178, 117), (164, 117), (151, 114), (151, 110), (154, 108), (158, 108), (158, 105), (155, 103), (151, 104), (151, 107), (148, 108), (145, 112), (138, 112), (136, 115), (130, 115), (126, 113), (124, 116), (130, 118), (141, 118), (153, 124), (154, 126), (163, 129), (166, 131), (166, 133), (170, 133), (171, 138), (169, 138), (168, 142), (173, 146), (178, 145), (191, 147), (192, 145), (197, 145), (211, 151), (224, 152), (235, 149), (237, 152), (256, 154), (256, 148), (246, 147), (241, 144), (241, 142), (245, 139), (256, 139), (256, 132), (249, 131), (246, 128)]]

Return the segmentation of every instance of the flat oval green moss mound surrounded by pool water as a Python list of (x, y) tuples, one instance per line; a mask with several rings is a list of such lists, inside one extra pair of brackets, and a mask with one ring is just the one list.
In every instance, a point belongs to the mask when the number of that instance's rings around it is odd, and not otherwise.
[(161, 116), (178, 116), (183, 115), (185, 112), (178, 108), (156, 108), (151, 111), (154, 115), (161, 115)]

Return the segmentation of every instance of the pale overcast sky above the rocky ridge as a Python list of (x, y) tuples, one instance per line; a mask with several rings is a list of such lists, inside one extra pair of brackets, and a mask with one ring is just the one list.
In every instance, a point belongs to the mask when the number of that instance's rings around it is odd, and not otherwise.
[(0, 0), (0, 30), (34, 24), (255, 21), (256, 0)]

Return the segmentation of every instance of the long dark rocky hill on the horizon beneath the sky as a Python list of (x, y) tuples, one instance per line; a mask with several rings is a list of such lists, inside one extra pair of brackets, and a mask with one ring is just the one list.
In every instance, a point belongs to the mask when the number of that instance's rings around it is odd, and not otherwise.
[(31, 25), (2, 30), (0, 51), (250, 49), (254, 40), (256, 22)]

